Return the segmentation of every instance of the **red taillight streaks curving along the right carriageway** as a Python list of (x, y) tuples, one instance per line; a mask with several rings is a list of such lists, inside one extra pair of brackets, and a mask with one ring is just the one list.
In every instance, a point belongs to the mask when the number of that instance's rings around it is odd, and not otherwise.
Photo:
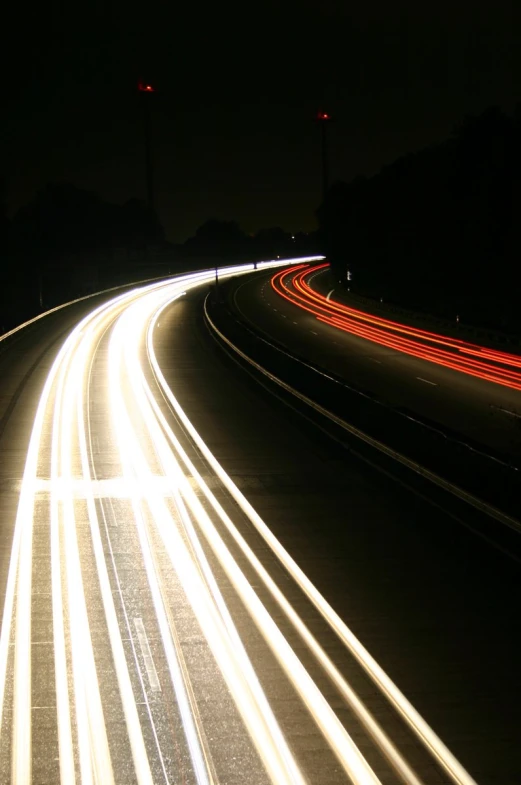
[(521, 357), (458, 338), (421, 330), (350, 308), (316, 292), (309, 279), (327, 265), (276, 273), (273, 289), (293, 305), (328, 324), (380, 346), (442, 365), (484, 381), (521, 390)]

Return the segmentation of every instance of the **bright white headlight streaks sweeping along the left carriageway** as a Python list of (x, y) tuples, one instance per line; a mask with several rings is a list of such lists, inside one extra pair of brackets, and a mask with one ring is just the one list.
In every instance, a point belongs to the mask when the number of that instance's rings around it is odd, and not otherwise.
[[(221, 270), (220, 277), (251, 270), (252, 265), (238, 265)], [(355, 785), (381, 782), (355, 742), (351, 729), (343, 724), (319, 688), (317, 677), (323, 674), (399, 779), (407, 785), (423, 785), (405, 753), (380, 727), (292, 606), (284, 591), (285, 583), (281, 586), (270, 576), (245, 541), (233, 515), (225, 511), (213, 486), (194, 464), (190, 450), (203, 457), (217, 487), (231, 496), (238, 514), (247, 516), (269, 546), (270, 558), (279, 562), (295, 586), (303, 591), (338, 640), (371, 676), (382, 699), (388, 700), (402, 715), (437, 765), (452, 782), (473, 785), (470, 775), (414, 711), (240, 493), (168, 387), (154, 349), (158, 319), (185, 292), (206, 285), (213, 277), (214, 270), (211, 270), (149, 284), (94, 309), (66, 340), (45, 382), (20, 493), (0, 636), (0, 711), (4, 716), (6, 708), (10, 708), (14, 717), (13, 785), (29, 785), (35, 754), (30, 679), (31, 661), (37, 656), (31, 647), (35, 523), (48, 526), (51, 546), (48, 569), (57, 741), (50, 742), (48, 754), (59, 758), (61, 785), (101, 782), (110, 785), (121, 781), (117, 764), (120, 752), (107, 719), (98, 672), (99, 658), (103, 655), (106, 660), (107, 652), (110, 652), (110, 668), (119, 695), (119, 703), (110, 706), (110, 713), (115, 712), (119, 718), (116, 721), (125, 725), (134, 777), (139, 785), (157, 783), (158, 777), (167, 785), (180, 781), (189, 785), (218, 785), (220, 776), (215, 756), (220, 751), (214, 748), (205, 731), (198, 708), (200, 688), (193, 682), (191, 662), (180, 642), (178, 625), (187, 614), (198, 625), (227, 691), (227, 700), (242, 720), (248, 749), (258, 757), (267, 779), (274, 785), (308, 782), (299, 753), (292, 748), (284, 723), (263, 688), (263, 674), (254, 665), (249, 641), (241, 636), (234, 621), (234, 609), (228, 600), (229, 587), (233, 587), (235, 602), (246, 613), (248, 628), (260, 633), (263, 645), (278, 663), (280, 678), (298, 696), (302, 710), (314, 724), (325, 748), (336, 756), (340, 764), (339, 781), (347, 779)], [(103, 380), (96, 385), (91, 384), (94, 365)], [(165, 401), (175, 418), (169, 416)], [(99, 485), (95, 492), (98, 472), (95, 456), (88, 449), (92, 438), (91, 415), (101, 423), (98, 427), (107, 429), (117, 455), (118, 476), (112, 485), (103, 486), (104, 492), (99, 490)], [(179, 438), (179, 424), (185, 446)], [(47, 442), (50, 442), (50, 453)], [(50, 460), (46, 458), (48, 454)], [(47, 472), (50, 481), (46, 484)], [(111, 487), (118, 489), (123, 506), (115, 514), (119, 516), (119, 524), (125, 525), (118, 526), (110, 537), (117, 542), (123, 530), (133, 532), (135, 569), (144, 578), (139, 595), (133, 595), (132, 613), (126, 607), (127, 593), (117, 573), (112, 544), (110, 541), (107, 544), (108, 531), (103, 533), (100, 527), (97, 499), (100, 494), (108, 494)], [(49, 494), (48, 512), (44, 513), (38, 512), (36, 505), (36, 496), (41, 492)], [(88, 537), (87, 550), (83, 545), (80, 547), (80, 531), (81, 543)], [(240, 554), (239, 558), (236, 553)], [(258, 580), (254, 585), (247, 578), (245, 564), (255, 571)], [(223, 591), (221, 574), (228, 581), (227, 591)], [(168, 586), (171, 575), (175, 575), (182, 590), (182, 597), (176, 595), (175, 605)], [(258, 586), (267, 590), (278, 606), (280, 613), (276, 618), (261, 599)], [(91, 632), (93, 600), (104, 614), (103, 639), (99, 625), (96, 636)], [(129, 618), (142, 620), (141, 624), (131, 628)], [(139, 648), (142, 643), (140, 630), (144, 627), (158, 632), (153, 641), (147, 639), (146, 651), (141, 647), (143, 658), (149, 657), (151, 661), (153, 643), (165, 663), (159, 673), (154, 665), (154, 678), (148, 687), (145, 679), (146, 673), (152, 672), (150, 662), (140, 665), (136, 658), (136, 646)], [(290, 645), (288, 630), (298, 634), (301, 645), (312, 656), (313, 672)], [(129, 635), (132, 636), (130, 646), (126, 642)], [(5, 705), (8, 677), (14, 683), (9, 707)], [(154, 686), (159, 679), (161, 690)], [(153, 704), (145, 700), (146, 711), (142, 711), (145, 690), (150, 690), (154, 700)], [(175, 698), (174, 706), (168, 705), (169, 695)], [(220, 719), (217, 713), (215, 721)], [(177, 723), (182, 740), (175, 730)], [(230, 744), (233, 741), (230, 739)], [(177, 757), (173, 752), (175, 745), (180, 746)], [(249, 781), (248, 772), (242, 774)]]

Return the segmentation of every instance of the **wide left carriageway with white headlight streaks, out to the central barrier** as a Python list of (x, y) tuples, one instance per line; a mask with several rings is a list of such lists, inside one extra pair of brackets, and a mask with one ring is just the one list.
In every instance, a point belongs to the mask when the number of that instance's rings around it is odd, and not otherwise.
[(2, 347), (0, 781), (513, 785), (517, 565), (230, 366), (213, 277)]

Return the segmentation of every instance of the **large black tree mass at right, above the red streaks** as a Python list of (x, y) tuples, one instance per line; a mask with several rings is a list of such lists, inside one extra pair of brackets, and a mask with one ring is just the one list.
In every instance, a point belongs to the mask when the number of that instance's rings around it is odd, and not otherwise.
[(520, 332), (520, 174), (521, 112), (488, 109), (375, 177), (334, 184), (322, 248), (354, 292)]

